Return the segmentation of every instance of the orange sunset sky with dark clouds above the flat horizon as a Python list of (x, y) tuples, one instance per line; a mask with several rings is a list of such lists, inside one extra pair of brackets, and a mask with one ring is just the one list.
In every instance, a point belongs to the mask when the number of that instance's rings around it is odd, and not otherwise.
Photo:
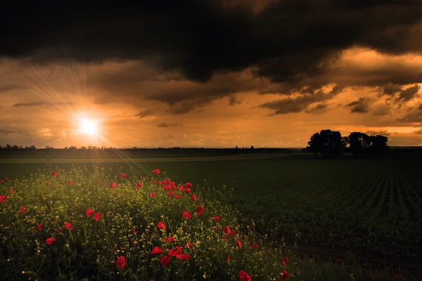
[(0, 145), (422, 145), (422, 1), (56, 2), (1, 4)]

